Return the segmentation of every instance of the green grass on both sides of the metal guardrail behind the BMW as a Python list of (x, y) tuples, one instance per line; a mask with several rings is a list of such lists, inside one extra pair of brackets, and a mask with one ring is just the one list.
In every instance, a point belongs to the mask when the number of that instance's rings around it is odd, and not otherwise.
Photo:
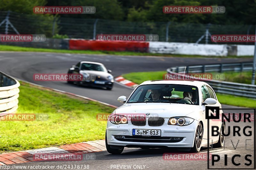
[[(151, 72), (132, 72), (128, 74), (124, 74), (123, 77), (131, 80), (134, 83), (140, 84), (146, 80), (157, 80), (157, 79), (163, 79), (163, 75), (166, 73), (166, 71), (151, 71)], [(228, 78), (228, 81), (236, 80), (236, 76), (239, 77), (240, 73), (227, 73), (226, 78)], [(249, 73), (244, 73), (243, 75), (247, 75), (247, 78), (249, 78)], [(244, 76), (242, 76), (244, 78)], [(227, 80), (225, 80), (227, 81)], [(248, 81), (250, 83), (250, 81)], [(246, 98), (246, 97), (239, 97), (239, 96), (233, 96), (233, 95), (226, 95), (226, 94), (220, 94), (217, 93), (217, 98), (220, 101), (221, 104), (227, 104), (227, 105), (234, 105), (234, 106), (240, 106), (240, 107), (256, 107), (256, 100)]]

